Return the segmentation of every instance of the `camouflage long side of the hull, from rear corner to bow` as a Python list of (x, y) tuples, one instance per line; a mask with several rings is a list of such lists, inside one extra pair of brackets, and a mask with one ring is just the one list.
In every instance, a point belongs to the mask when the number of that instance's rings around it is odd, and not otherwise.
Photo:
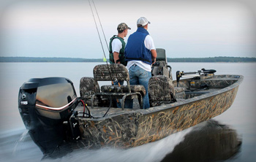
[[(238, 87), (207, 99), (140, 117), (134, 146), (154, 142), (225, 112), (233, 103)], [(184, 101), (185, 102), (185, 101)], [(175, 105), (175, 104), (173, 104)], [(170, 105), (162, 105), (170, 107)]]

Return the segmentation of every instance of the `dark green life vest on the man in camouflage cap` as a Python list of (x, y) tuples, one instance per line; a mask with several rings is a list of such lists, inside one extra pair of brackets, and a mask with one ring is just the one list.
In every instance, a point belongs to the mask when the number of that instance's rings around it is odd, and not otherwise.
[(124, 57), (124, 47), (125, 47), (125, 42), (124, 39), (122, 39), (121, 37), (114, 35), (110, 38), (110, 42), (109, 42), (109, 58), (110, 58), (110, 63), (115, 63), (114, 61), (114, 55), (113, 55), (113, 51), (112, 51), (112, 42), (113, 39), (119, 39), (121, 41), (122, 47), (121, 50), (119, 51), (119, 60), (121, 64), (123, 64), (124, 66), (127, 66), (127, 61), (125, 61), (125, 57)]

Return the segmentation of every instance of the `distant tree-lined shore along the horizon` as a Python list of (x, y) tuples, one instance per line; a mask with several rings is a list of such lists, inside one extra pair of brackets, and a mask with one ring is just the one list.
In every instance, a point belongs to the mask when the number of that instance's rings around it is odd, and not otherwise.
[[(213, 57), (213, 58), (167, 58), (168, 62), (256, 62), (256, 58)], [(0, 62), (103, 62), (102, 58), (37, 58), (0, 57)]]

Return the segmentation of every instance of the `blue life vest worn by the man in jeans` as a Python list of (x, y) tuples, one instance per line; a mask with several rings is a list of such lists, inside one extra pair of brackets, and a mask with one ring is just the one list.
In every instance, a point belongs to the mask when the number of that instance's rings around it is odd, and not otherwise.
[(129, 36), (125, 47), (125, 58), (127, 61), (143, 61), (151, 64), (152, 56), (144, 44), (148, 31), (145, 28), (138, 28)]

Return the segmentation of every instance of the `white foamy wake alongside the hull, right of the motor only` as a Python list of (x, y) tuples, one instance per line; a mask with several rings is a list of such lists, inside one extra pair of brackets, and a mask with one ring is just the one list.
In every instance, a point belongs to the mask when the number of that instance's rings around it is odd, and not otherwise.
[[(61, 161), (72, 159), (72, 161), (161, 161), (162, 158), (171, 153), (176, 144), (184, 140), (192, 128), (172, 134), (157, 142), (143, 144), (126, 150), (105, 147), (99, 150), (78, 150), (61, 158)], [(56, 160), (59, 161), (59, 160)]]

